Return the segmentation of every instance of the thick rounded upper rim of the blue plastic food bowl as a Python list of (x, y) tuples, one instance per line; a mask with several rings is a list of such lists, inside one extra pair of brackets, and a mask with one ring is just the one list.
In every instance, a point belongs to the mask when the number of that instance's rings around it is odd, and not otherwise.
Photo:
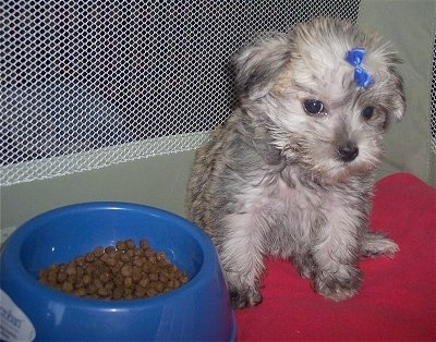
[[(21, 262), (21, 246), (27, 239), (27, 236), (37, 231), (45, 222), (48, 222), (55, 217), (62, 216), (66, 212), (87, 210), (113, 210), (113, 209), (129, 209), (129, 210), (146, 210), (147, 215), (156, 217), (165, 217), (166, 219), (175, 220), (177, 224), (183, 228), (194, 240), (198, 243), (203, 252), (203, 262), (198, 269), (198, 272), (189, 280), (187, 283), (182, 286), (171, 290), (169, 292), (159, 294), (154, 297), (133, 298), (133, 300), (99, 300), (81, 297), (74, 294), (69, 294), (60, 290), (51, 289), (40, 283), (35, 277)], [(1, 258), (12, 261), (14, 266), (14, 272), (19, 273), (19, 277), (23, 279), (23, 283), (26, 284), (32, 291), (37, 291), (41, 295), (50, 297), (52, 301), (68, 303), (71, 306), (90, 306), (98, 309), (108, 310), (123, 310), (123, 309), (142, 309), (144, 306), (152, 307), (155, 305), (161, 305), (162, 302), (169, 302), (173, 297), (183, 296), (186, 293), (195, 293), (196, 290), (201, 289), (202, 285), (207, 282), (208, 274), (214, 272), (215, 267), (220, 267), (219, 259), (209, 236), (202, 231), (197, 225), (187, 219), (178, 216), (173, 212), (165, 209), (135, 204), (128, 201), (87, 201), (62, 206), (39, 213), (38, 216), (27, 220), (21, 224), (4, 243), (1, 251)]]

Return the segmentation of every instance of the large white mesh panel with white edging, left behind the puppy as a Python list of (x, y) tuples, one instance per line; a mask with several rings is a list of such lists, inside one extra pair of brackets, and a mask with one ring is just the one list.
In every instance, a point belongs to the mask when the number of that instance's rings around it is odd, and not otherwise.
[(255, 34), (360, 1), (2, 1), (1, 184), (196, 148)]

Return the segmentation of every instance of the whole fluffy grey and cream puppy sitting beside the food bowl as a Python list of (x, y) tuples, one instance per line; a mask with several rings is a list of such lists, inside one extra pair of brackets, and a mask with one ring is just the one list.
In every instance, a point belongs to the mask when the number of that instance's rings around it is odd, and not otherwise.
[(233, 307), (262, 301), (265, 255), (290, 259), (328, 298), (354, 295), (359, 259), (398, 249), (368, 230), (383, 133), (404, 114), (398, 58), (374, 34), (316, 19), (233, 62), (238, 106), (197, 151), (186, 195)]

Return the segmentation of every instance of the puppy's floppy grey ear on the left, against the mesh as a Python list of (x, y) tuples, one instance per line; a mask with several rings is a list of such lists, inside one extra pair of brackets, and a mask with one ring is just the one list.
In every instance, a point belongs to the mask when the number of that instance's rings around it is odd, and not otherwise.
[(255, 100), (267, 95), (290, 54), (291, 44), (287, 35), (264, 38), (243, 48), (232, 60), (239, 97)]

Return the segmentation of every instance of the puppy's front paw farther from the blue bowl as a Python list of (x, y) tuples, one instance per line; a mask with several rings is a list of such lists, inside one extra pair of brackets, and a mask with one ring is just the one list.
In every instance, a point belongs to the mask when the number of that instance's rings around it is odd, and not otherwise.
[(362, 284), (362, 272), (353, 268), (349, 269), (347, 274), (341, 273), (315, 276), (314, 290), (334, 301), (343, 301), (353, 296)]

